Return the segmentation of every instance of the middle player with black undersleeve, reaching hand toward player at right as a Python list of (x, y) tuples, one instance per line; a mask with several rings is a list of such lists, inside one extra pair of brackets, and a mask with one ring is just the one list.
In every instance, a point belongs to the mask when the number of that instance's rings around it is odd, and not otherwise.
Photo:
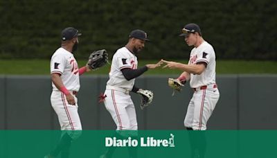
[[(135, 78), (141, 76), (148, 69), (155, 69), (160, 66), (158, 62), (157, 64), (146, 64), (144, 67), (137, 68), (136, 54), (143, 50), (146, 41), (149, 40), (143, 30), (132, 30), (129, 34), (128, 43), (118, 49), (113, 56), (104, 103), (112, 119), (114, 119), (114, 123), (116, 123), (116, 130), (138, 130), (136, 110), (129, 92), (139, 94), (139, 91), (143, 91), (143, 89), (139, 89), (134, 85)], [(120, 137), (120, 135), (117, 135), (117, 137)], [(112, 152), (113, 148), (101, 157), (111, 157)], [(130, 157), (136, 157), (136, 152), (129, 150), (129, 155)]]

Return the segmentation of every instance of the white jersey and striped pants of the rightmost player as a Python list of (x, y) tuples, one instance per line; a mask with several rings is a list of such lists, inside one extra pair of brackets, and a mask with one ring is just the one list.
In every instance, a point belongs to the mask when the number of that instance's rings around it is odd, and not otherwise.
[(186, 113), (184, 125), (193, 130), (206, 130), (206, 123), (220, 98), (215, 82), (215, 51), (204, 41), (190, 52), (188, 64), (205, 62), (206, 69), (200, 74), (190, 74), (190, 87), (195, 90)]

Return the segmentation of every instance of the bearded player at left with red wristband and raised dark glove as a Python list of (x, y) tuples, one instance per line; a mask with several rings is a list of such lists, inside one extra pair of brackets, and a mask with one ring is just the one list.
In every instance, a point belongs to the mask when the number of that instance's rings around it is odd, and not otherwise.
[(62, 46), (55, 51), (51, 58), (51, 79), (53, 91), (51, 105), (55, 110), (62, 137), (57, 147), (46, 157), (69, 157), (71, 141), (80, 137), (82, 125), (78, 114), (77, 93), (80, 89), (79, 76), (90, 71), (88, 65), (78, 68), (73, 53), (78, 48), (78, 30), (69, 27), (62, 30)]

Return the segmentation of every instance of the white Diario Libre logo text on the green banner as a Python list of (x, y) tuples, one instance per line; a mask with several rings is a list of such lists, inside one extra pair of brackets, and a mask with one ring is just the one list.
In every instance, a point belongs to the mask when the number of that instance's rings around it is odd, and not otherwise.
[(169, 139), (154, 139), (154, 137), (141, 137), (133, 139), (128, 137), (127, 139), (117, 139), (116, 137), (105, 138), (106, 147), (175, 147), (174, 134), (170, 134)]

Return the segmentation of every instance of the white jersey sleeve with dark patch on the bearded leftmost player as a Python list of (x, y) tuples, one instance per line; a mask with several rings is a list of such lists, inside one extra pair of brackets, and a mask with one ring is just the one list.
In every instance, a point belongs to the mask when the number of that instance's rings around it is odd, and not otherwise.
[(59, 73), (62, 74), (64, 72), (64, 67), (66, 64), (66, 60), (64, 55), (62, 54), (57, 54), (53, 55), (51, 59), (51, 73)]

